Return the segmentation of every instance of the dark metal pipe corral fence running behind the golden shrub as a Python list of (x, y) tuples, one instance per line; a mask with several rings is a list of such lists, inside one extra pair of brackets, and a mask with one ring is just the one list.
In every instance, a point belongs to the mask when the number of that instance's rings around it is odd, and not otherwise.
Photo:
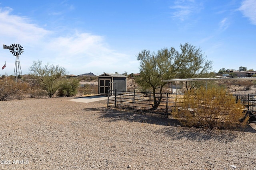
[[(256, 96), (253, 94), (234, 94), (236, 101), (244, 105), (244, 111), (250, 116), (249, 123), (256, 123)], [(159, 99), (160, 93), (156, 93)], [(172, 111), (179, 107), (184, 94), (162, 94), (162, 100), (157, 109), (153, 109), (154, 97), (147, 90), (109, 90), (107, 107), (153, 113), (161, 117), (172, 117)]]

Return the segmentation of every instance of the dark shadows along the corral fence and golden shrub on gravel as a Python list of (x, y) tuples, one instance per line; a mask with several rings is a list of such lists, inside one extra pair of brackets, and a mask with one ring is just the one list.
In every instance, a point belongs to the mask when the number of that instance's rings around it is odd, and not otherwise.
[[(177, 127), (181, 123), (177, 119), (169, 119), (162, 117), (153, 117), (135, 112), (118, 111), (115, 109), (107, 109), (106, 107), (100, 108), (86, 108), (83, 111), (100, 111), (100, 117), (109, 122), (115, 121), (129, 121), (129, 122), (141, 122), (150, 123), (156, 125), (164, 125), (164, 127), (156, 131), (155, 133), (164, 133), (172, 137), (174, 140), (186, 138), (192, 141), (208, 141), (215, 140), (223, 143), (234, 141), (237, 136), (237, 131), (226, 131), (219, 129), (202, 129), (202, 128), (189, 128), (189, 127)], [(175, 128), (174, 128), (175, 127)], [(241, 130), (240, 130), (241, 131)], [(255, 128), (251, 125), (247, 125), (243, 132), (256, 133)]]

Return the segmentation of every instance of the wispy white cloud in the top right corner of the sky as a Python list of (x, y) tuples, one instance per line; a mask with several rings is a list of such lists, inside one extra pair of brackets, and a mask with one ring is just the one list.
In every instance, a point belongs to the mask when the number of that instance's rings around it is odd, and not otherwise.
[(256, 0), (244, 0), (239, 10), (249, 18), (252, 24), (256, 25)]

